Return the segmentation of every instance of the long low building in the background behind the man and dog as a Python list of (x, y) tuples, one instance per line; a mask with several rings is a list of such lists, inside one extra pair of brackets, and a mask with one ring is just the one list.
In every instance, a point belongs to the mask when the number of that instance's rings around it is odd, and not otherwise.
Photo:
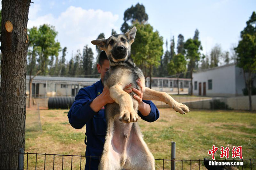
[[(100, 78), (50, 77), (36, 76), (32, 81), (32, 97), (47, 98), (56, 96), (76, 96), (80, 88), (90, 86)], [(1, 82), (1, 76), (0, 76)], [(190, 79), (180, 78), (181, 93), (188, 93)], [(149, 78), (146, 79), (149, 87)], [(163, 92), (178, 92), (177, 78), (152, 77), (152, 89)], [(29, 95), (29, 76), (26, 76), (27, 96)]]

